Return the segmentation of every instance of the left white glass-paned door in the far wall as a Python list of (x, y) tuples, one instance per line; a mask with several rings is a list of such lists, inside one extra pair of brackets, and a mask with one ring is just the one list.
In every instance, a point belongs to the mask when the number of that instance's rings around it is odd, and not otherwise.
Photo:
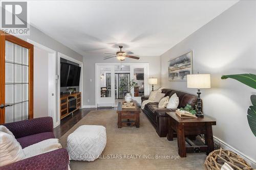
[(98, 65), (97, 80), (97, 107), (115, 106), (115, 66)]

